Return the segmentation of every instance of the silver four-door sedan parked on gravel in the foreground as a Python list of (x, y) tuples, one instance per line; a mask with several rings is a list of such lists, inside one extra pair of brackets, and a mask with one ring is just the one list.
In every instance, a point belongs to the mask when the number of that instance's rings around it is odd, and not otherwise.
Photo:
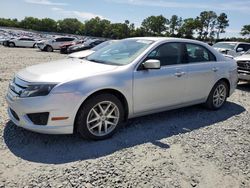
[(217, 110), (237, 80), (235, 60), (205, 43), (129, 38), (85, 59), (27, 67), (11, 81), (6, 99), (17, 126), (98, 140), (129, 118), (200, 103)]

